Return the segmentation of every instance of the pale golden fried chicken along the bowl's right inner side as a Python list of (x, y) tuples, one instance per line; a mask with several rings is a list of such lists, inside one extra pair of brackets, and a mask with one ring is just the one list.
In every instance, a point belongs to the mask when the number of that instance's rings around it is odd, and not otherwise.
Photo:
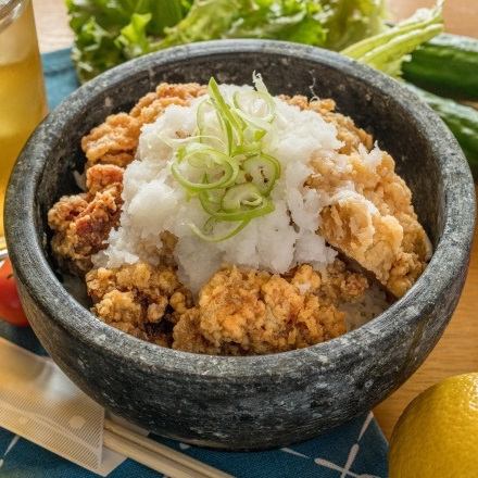
[(345, 155), (345, 167), (338, 168), (330, 158), (314, 158), (311, 163), (315, 174), (306, 186), (325, 191), (331, 202), (320, 212), (319, 232), (374, 273), (393, 295), (403, 295), (425, 269), (431, 244), (393, 159), (378, 151), (379, 158), (364, 159), (372, 149), (372, 136), (355, 127), (350, 117), (335, 113), (334, 101), (309, 102), (305, 97), (287, 101), (320, 113), (336, 125), (338, 138), (344, 142), (339, 152)]

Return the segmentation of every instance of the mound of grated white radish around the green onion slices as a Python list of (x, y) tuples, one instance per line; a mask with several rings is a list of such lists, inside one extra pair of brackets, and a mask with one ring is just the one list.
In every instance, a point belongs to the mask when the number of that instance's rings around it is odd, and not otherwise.
[[(226, 98), (251, 87), (221, 86)], [(320, 210), (354, 196), (353, 185), (330, 198), (324, 191), (304, 186), (313, 174), (311, 158), (327, 156), (341, 167), (338, 150), (342, 142), (337, 128), (317, 112), (302, 111), (275, 98), (276, 117), (263, 139), (264, 152), (276, 158), (282, 168), (272, 191), (274, 212), (254, 218), (239, 234), (222, 242), (210, 243), (196, 236), (190, 224), (207, 218), (197, 198), (188, 198), (171, 173), (174, 142), (194, 135), (197, 109), (203, 98), (189, 106), (168, 106), (154, 123), (142, 127), (136, 160), (124, 174), (123, 212), (117, 230), (112, 230), (108, 248), (92, 257), (96, 267), (118, 267), (144, 261), (160, 262), (161, 232), (178, 239), (175, 260), (183, 284), (193, 292), (223, 264), (286, 273), (298, 264), (309, 263), (323, 271), (337, 252), (316, 234)], [(380, 151), (361, 150), (364, 161), (373, 165)], [(358, 196), (358, 194), (356, 194)], [(361, 200), (365, 200), (361, 197)], [(370, 209), (375, 207), (370, 203)]]

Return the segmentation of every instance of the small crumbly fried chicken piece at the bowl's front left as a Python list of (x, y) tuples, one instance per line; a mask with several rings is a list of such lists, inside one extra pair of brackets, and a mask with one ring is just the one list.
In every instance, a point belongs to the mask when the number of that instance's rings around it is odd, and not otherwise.
[(135, 337), (171, 344), (173, 323), (156, 326), (167, 315), (169, 298), (181, 287), (172, 267), (142, 262), (115, 269), (100, 267), (86, 275), (86, 285), (93, 302), (91, 311), (101, 320)]

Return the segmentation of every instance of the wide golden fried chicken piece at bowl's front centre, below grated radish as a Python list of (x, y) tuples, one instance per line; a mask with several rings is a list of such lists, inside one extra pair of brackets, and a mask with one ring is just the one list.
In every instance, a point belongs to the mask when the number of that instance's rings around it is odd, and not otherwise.
[[(180, 315), (173, 348), (207, 354), (264, 354), (338, 337), (345, 331), (338, 298), (354, 297), (360, 280), (351, 280), (353, 273), (347, 273), (339, 262), (335, 267), (326, 277), (310, 265), (285, 277), (236, 266), (218, 271), (201, 289), (198, 305)], [(366, 279), (361, 284), (364, 292)]]

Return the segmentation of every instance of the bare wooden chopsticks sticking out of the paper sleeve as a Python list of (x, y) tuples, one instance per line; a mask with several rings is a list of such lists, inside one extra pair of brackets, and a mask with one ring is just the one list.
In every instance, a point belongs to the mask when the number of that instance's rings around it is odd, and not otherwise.
[(232, 478), (231, 475), (135, 433), (110, 419), (104, 420), (103, 443), (110, 450), (171, 478)]

